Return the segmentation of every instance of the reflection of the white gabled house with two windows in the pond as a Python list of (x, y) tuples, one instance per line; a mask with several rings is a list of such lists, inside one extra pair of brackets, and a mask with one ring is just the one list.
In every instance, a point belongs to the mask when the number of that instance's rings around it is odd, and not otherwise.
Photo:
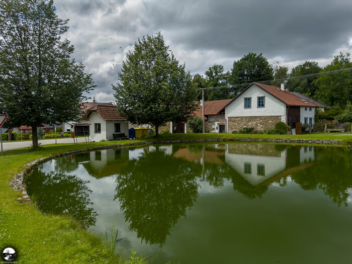
[(228, 144), (225, 154), (225, 162), (252, 186), (279, 180), (313, 160), (313, 146)]

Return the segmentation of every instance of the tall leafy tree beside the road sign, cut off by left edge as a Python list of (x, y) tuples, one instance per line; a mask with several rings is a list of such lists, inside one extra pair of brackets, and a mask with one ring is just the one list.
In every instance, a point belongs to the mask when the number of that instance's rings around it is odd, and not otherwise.
[(0, 0), (0, 113), (9, 114), (7, 126), (32, 127), (34, 148), (37, 128), (77, 120), (94, 87), (60, 39), (67, 29), (53, 1)]

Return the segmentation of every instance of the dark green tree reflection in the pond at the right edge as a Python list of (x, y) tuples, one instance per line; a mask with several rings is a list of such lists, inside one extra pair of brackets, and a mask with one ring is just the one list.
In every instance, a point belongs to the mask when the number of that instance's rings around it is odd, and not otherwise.
[(352, 154), (347, 148), (316, 147), (318, 160), (309, 169), (293, 173), (291, 178), (304, 190), (319, 188), (338, 206), (347, 206), (348, 189), (352, 187)]

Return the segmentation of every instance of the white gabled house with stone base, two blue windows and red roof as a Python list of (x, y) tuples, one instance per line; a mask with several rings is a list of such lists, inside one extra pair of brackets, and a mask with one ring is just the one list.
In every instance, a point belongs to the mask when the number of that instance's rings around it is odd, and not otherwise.
[(225, 106), (227, 131), (253, 127), (266, 131), (277, 122), (295, 128), (296, 123), (314, 124), (315, 109), (321, 107), (313, 100), (298, 97), (282, 87), (253, 82)]

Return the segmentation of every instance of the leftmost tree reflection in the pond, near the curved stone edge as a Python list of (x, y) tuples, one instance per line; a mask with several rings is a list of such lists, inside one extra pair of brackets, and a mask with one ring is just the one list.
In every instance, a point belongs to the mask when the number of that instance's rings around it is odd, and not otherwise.
[(38, 168), (26, 180), (28, 194), (34, 195), (43, 212), (71, 215), (86, 228), (96, 223), (97, 216), (93, 208), (87, 207), (92, 204), (87, 183), (74, 175), (44, 173)]

